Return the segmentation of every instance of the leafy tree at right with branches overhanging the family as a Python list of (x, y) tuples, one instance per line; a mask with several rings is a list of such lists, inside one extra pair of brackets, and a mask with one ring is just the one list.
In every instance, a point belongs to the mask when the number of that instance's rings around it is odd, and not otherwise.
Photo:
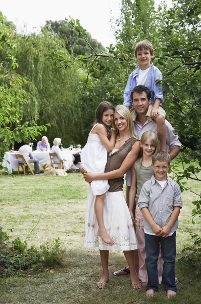
[[(120, 100), (130, 69), (133, 70), (133, 54), (131, 54), (133, 45), (130, 42), (137, 42), (145, 37), (144, 32), (138, 31), (137, 33), (133, 30), (134, 22), (139, 21), (137, 26), (140, 26), (143, 18), (147, 16), (142, 9), (143, 3), (145, 2), (136, 1), (132, 5), (129, 0), (122, 1), (123, 15), (119, 22), (120, 29), (117, 30), (117, 45), (111, 44), (106, 52), (97, 53), (91, 48), (92, 54), (88, 56), (61, 58), (57, 54), (56, 57), (49, 59), (63, 62), (66, 65), (76, 64), (84, 70), (87, 69), (89, 86), (93, 85), (95, 74), (96, 77), (103, 74), (103, 60), (106, 61), (107, 65), (104, 65), (107, 66), (106, 74), (102, 81), (107, 79), (108, 83), (113, 85), (113, 89), (107, 93), (107, 96), (112, 97), (113, 95), (114, 99)], [(153, 5), (153, 2), (149, 2), (149, 4)], [(154, 19), (150, 19), (150, 22), (155, 22), (157, 26), (150, 27), (150, 37), (155, 36), (155, 40), (159, 41), (154, 63), (160, 68), (164, 77), (160, 85), (162, 85), (165, 95), (168, 120), (188, 145), (183, 147), (181, 153), (183, 170), (177, 172), (176, 166), (173, 167), (182, 190), (185, 187), (183, 178), (201, 181), (197, 175), (201, 166), (200, 10), (200, 1), (180, 0), (175, 2), (175, 5), (169, 10), (166, 10), (166, 7), (162, 9), (161, 6), (158, 11), (153, 10), (152, 18), (154, 16)], [(132, 14), (136, 14), (134, 18)], [(69, 26), (75, 34), (77, 33), (87, 40), (85, 30), (79, 24), (79, 20), (71, 19)], [(147, 30), (147, 26), (148, 23), (145, 22), (144, 31)], [(152, 29), (154, 29), (153, 32)], [(128, 51), (130, 53), (127, 53)], [(84, 89), (87, 89), (87, 84)], [(199, 213), (201, 201), (200, 195), (197, 195), (199, 200), (195, 205), (197, 213)]]

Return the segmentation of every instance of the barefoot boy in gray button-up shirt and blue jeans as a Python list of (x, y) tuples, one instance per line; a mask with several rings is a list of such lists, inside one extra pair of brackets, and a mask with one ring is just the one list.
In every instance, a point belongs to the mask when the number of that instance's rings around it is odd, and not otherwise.
[(161, 244), (164, 260), (162, 283), (168, 297), (176, 295), (175, 257), (178, 216), (182, 208), (179, 185), (167, 172), (170, 156), (160, 151), (153, 156), (154, 175), (141, 189), (138, 207), (144, 216), (144, 238), (148, 282), (146, 295), (154, 296), (159, 289), (157, 262)]

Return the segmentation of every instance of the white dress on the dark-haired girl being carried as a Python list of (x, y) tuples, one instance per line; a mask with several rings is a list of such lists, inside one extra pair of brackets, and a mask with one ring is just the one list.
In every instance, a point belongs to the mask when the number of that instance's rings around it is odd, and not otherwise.
[[(91, 131), (97, 125), (98, 124), (95, 124)], [(88, 135), (86, 145), (81, 150), (80, 157), (82, 168), (93, 174), (104, 173), (108, 152), (100, 140), (99, 135), (91, 134), (91, 131)], [(94, 196), (106, 193), (109, 187), (107, 180), (94, 180), (91, 182), (92, 193)]]

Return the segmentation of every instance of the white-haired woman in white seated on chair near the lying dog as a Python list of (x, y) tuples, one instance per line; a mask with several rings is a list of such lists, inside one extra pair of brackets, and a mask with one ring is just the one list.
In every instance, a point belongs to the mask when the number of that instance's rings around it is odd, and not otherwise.
[(66, 159), (62, 155), (62, 151), (59, 147), (61, 144), (61, 141), (62, 141), (62, 139), (59, 137), (54, 139), (54, 141), (53, 141), (54, 146), (52, 146), (52, 153), (57, 153), (57, 156), (53, 156), (52, 159), (53, 159), (54, 163), (60, 163), (60, 161), (63, 161), (64, 170), (67, 171), (67, 170), (71, 169), (71, 167), (73, 166), (73, 156), (70, 154), (69, 157)]

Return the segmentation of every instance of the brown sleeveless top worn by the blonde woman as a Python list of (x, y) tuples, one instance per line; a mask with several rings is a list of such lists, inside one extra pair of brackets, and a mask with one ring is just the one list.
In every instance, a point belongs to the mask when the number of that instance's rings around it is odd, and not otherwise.
[[(112, 155), (108, 153), (108, 160), (106, 164), (105, 172), (110, 172), (113, 170), (117, 170), (121, 167), (121, 164), (127, 157), (130, 152), (133, 144), (138, 141), (136, 138), (129, 138), (125, 141), (125, 143)], [(124, 177), (118, 177), (114, 179), (109, 179), (108, 183), (110, 185), (109, 192), (117, 192), (123, 190)]]

